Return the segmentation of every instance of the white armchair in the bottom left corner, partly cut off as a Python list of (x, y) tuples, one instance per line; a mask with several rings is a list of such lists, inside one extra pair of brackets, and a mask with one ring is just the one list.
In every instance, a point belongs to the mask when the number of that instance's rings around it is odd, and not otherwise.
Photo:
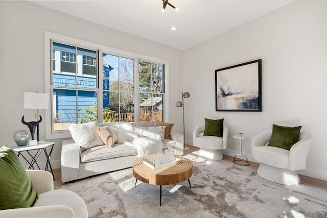
[(52, 174), (47, 171), (27, 170), (33, 187), (39, 194), (33, 207), (0, 210), (2, 218), (87, 218), (82, 198), (69, 190), (54, 190)]

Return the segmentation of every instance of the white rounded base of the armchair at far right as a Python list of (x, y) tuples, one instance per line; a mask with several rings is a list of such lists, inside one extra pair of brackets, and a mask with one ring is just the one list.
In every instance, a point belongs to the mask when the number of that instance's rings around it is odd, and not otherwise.
[(300, 178), (295, 171), (269, 166), (264, 163), (259, 165), (256, 174), (265, 180), (282, 185), (297, 185), (300, 183)]

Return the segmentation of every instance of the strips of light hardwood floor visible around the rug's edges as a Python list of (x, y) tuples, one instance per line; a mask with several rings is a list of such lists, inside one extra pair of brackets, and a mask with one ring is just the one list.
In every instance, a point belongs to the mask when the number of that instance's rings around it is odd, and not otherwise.
[[(184, 155), (185, 154), (190, 154), (190, 153), (195, 152), (195, 151), (198, 150), (197, 147), (193, 147), (193, 146), (187, 146), (187, 147), (189, 147), (190, 149), (187, 150), (187, 151), (184, 151)], [(229, 162), (232, 163), (233, 157), (224, 155), (224, 160), (229, 161)], [(249, 167), (249, 168), (254, 169), (254, 170), (258, 169), (259, 163), (255, 163), (255, 162), (251, 162), (251, 161), (249, 161), (249, 162), (250, 162), (250, 165), (244, 166), (244, 167)], [(63, 183), (61, 182), (61, 168), (53, 169), (53, 173), (54, 173), (54, 176), (56, 178), (56, 180), (54, 181), (54, 186), (57, 187), (57, 186), (62, 185)], [(316, 178), (312, 178), (312, 177), (308, 177), (308, 176), (303, 176), (303, 175), (299, 175), (299, 177), (300, 177), (301, 183), (303, 183), (303, 184), (310, 185), (310, 186), (320, 188), (320, 189), (323, 189), (323, 190), (327, 190), (327, 181), (323, 181), (323, 180), (320, 180), (320, 179), (316, 179)]]

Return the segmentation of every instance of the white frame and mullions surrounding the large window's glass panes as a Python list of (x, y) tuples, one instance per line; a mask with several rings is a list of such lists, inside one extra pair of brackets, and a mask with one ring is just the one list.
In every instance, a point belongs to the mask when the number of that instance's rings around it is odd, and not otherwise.
[[(91, 41), (85, 41), (69, 36), (64, 36), (60, 35), (57, 33), (52, 33), (48, 31), (44, 31), (44, 92), (50, 94), (51, 100), (52, 100), (52, 91), (53, 87), (51, 85), (51, 80), (52, 80), (52, 64), (53, 64), (53, 59), (52, 59), (52, 40), (55, 42), (59, 43), (64, 43), (64, 44), (73, 44), (74, 46), (77, 47), (82, 47), (83, 49), (90, 49), (90, 50), (98, 50), (98, 63), (102, 63), (102, 55), (103, 53), (105, 54), (110, 54), (110, 55), (116, 55), (124, 58), (130, 58), (134, 60), (134, 122), (137, 123), (139, 122), (139, 96), (138, 96), (138, 62), (139, 60), (142, 61), (148, 61), (151, 63), (157, 63), (157, 64), (162, 64), (164, 65), (164, 111), (163, 111), (163, 117), (164, 121), (168, 122), (167, 117), (169, 117), (169, 61), (160, 59), (160, 58), (154, 58), (134, 52), (129, 52), (121, 49), (116, 49), (114, 47), (110, 47), (107, 45), (103, 44), (98, 44), (94, 43)], [(49, 61), (51, 60), (51, 61)], [(61, 60), (60, 60), (61, 61)], [(102, 101), (99, 101), (101, 97), (99, 97), (99, 94), (103, 93), (103, 84), (102, 84), (102, 79), (100, 80), (99, 78), (102, 78), (102, 65), (99, 67), (98, 70), (98, 122), (101, 123), (103, 120), (103, 104)], [(102, 98), (101, 98), (102, 100)], [(59, 139), (59, 138), (70, 138), (71, 133), (68, 130), (62, 130), (62, 131), (53, 131), (53, 117), (52, 117), (52, 108), (53, 108), (53, 101), (50, 103), (49, 109), (45, 109), (45, 138), (46, 139)], [(100, 111), (100, 112), (99, 112)], [(135, 115), (137, 114), (137, 115)]]

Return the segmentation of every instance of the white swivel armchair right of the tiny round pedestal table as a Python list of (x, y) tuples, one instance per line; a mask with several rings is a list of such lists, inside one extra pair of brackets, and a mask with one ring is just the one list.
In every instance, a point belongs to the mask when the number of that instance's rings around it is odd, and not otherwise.
[(299, 140), (290, 151), (272, 146), (266, 146), (271, 137), (271, 131), (252, 138), (252, 156), (261, 162), (257, 174), (268, 181), (284, 185), (300, 183), (296, 171), (306, 168), (307, 155), (311, 149), (311, 136), (300, 132)]

